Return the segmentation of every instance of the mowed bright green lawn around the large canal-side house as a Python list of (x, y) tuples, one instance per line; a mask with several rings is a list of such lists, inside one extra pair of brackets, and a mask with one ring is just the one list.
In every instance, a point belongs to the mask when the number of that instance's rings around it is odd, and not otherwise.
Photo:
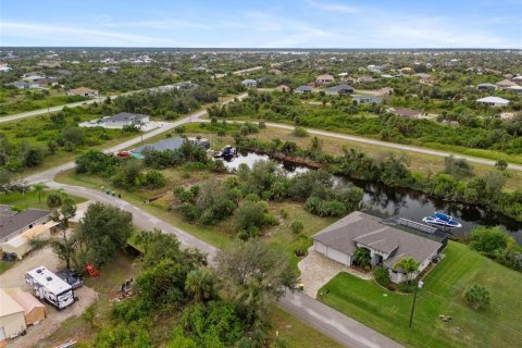
[[(412, 328), (412, 296), (374, 281), (338, 274), (320, 290), (320, 300), (409, 347), (522, 347), (522, 274), (453, 241), (444, 253), (423, 279)], [(468, 307), (463, 293), (472, 284), (489, 290), (488, 308)], [(445, 323), (439, 314), (452, 321)]]

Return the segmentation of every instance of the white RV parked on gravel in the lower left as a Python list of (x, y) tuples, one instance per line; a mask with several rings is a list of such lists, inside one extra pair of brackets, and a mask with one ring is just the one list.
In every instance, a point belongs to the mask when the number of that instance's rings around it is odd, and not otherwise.
[(36, 297), (46, 300), (59, 310), (75, 301), (71, 285), (42, 265), (27, 272), (25, 282), (33, 286)]

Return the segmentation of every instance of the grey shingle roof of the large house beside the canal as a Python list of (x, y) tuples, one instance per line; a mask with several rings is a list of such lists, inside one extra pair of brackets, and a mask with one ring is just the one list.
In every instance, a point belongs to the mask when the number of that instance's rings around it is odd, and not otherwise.
[(423, 262), (442, 244), (382, 223), (380, 217), (356, 211), (313, 237), (328, 248), (352, 254), (357, 244), (390, 254), (384, 263), (393, 268), (401, 258)]

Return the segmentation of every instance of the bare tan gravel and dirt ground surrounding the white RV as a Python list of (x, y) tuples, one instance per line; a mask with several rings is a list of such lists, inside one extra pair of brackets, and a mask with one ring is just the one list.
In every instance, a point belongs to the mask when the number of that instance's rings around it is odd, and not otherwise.
[[(33, 289), (25, 283), (24, 274), (39, 265), (45, 265), (49, 270), (55, 271), (60, 265), (60, 260), (49, 248), (33, 252), (0, 275), (1, 286), (20, 287), (34, 295)], [(33, 347), (37, 341), (57, 331), (65, 320), (82, 314), (98, 298), (98, 293), (86, 286), (76, 289), (74, 293), (79, 300), (62, 311), (58, 311), (52, 306), (45, 303), (47, 308), (46, 320), (39, 325), (27, 327), (27, 335), (11, 340), (8, 347)]]

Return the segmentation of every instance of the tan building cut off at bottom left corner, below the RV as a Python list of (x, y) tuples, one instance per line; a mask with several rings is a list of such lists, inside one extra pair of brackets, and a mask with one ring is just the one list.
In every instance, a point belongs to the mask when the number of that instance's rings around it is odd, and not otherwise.
[(26, 328), (24, 309), (3, 289), (0, 289), (0, 346), (7, 344)]

